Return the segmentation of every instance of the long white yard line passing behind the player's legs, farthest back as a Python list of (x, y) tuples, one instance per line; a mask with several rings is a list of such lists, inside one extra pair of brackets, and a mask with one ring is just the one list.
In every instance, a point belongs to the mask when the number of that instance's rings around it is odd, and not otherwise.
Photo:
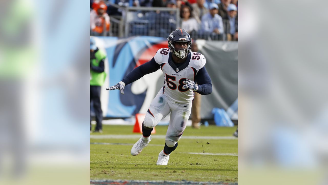
[[(91, 139), (139, 139), (140, 134), (131, 135), (90, 135)], [(165, 135), (152, 135), (152, 138), (165, 139)], [(234, 136), (183, 136), (181, 139), (214, 139), (214, 140), (237, 140)]]

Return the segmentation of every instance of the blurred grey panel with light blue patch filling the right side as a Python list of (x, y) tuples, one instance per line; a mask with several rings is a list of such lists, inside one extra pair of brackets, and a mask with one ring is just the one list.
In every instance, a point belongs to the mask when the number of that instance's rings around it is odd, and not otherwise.
[(239, 4), (240, 184), (328, 183), (327, 39), (321, 37), (328, 16), (321, 5), (327, 3)]

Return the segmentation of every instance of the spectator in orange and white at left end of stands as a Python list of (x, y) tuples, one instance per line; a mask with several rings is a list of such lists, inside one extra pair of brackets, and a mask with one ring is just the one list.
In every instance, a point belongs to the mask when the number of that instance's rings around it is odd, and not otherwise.
[(106, 13), (107, 6), (104, 2), (100, 2), (99, 6), (96, 6), (93, 11), (90, 12), (90, 27), (92, 35), (101, 35), (104, 32), (104, 27), (106, 31), (109, 31), (110, 19), (109, 15)]

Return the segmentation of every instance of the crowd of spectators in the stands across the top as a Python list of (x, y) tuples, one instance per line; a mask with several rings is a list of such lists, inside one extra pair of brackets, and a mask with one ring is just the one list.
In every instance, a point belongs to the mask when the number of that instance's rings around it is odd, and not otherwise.
[[(167, 7), (179, 9), (180, 16), (158, 10), (126, 13), (124, 7)], [(109, 32), (110, 16), (129, 16), (129, 36), (167, 37), (182, 28), (195, 39), (238, 40), (237, 7), (238, 0), (91, 0), (91, 35)]]

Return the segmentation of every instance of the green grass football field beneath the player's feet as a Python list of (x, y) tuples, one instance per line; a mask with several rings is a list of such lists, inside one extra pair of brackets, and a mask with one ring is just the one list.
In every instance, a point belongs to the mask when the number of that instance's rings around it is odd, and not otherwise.
[[(155, 129), (153, 136), (164, 137), (167, 126), (156, 126)], [(164, 138), (153, 137), (139, 155), (130, 154), (131, 147), (139, 139), (138, 136), (141, 137), (140, 133), (132, 133), (132, 130), (133, 126), (103, 125), (102, 134), (91, 134), (91, 137), (125, 135), (123, 139), (113, 136), (90, 139), (91, 180), (238, 182), (238, 140), (232, 137), (236, 127), (187, 127), (178, 147), (171, 153), (167, 166), (156, 165), (158, 153), (165, 144)], [(132, 138), (133, 136), (138, 138)], [(227, 137), (197, 138), (205, 136)]]

